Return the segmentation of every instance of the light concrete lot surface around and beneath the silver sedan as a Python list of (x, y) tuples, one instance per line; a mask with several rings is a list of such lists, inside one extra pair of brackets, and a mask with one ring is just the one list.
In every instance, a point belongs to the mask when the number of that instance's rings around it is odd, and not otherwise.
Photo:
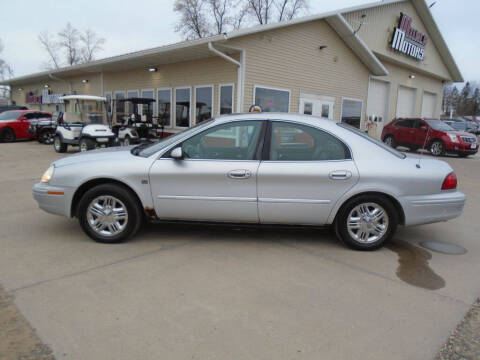
[(444, 158), (462, 217), (369, 253), (329, 231), (179, 225), (97, 244), (32, 199), (59, 156), (0, 144), (0, 286), (57, 359), (432, 359), (480, 295), (479, 156)]

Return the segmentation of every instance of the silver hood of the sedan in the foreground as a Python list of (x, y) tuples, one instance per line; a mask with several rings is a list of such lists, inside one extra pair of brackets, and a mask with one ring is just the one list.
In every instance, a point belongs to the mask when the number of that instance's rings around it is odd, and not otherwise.
[(132, 153), (130, 152), (133, 147), (134, 146), (117, 146), (79, 152), (59, 159), (53, 164), (55, 165), (55, 167), (61, 167), (84, 162), (91, 163), (97, 161), (126, 161), (128, 159), (135, 158), (135, 156), (132, 155)]

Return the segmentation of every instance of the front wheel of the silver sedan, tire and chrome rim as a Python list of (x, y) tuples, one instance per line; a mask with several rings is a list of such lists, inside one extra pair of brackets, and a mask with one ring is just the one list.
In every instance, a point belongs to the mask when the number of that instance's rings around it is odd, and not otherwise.
[[(122, 211), (126, 215), (123, 220), (112, 215)], [(77, 216), (83, 231), (91, 239), (108, 244), (128, 240), (138, 232), (143, 222), (135, 195), (116, 184), (97, 185), (88, 190), (78, 204)]]

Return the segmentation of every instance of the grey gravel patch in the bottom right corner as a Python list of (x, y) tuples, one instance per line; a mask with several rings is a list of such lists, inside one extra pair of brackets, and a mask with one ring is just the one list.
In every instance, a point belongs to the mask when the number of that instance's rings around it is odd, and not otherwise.
[(480, 298), (473, 304), (435, 359), (480, 359)]

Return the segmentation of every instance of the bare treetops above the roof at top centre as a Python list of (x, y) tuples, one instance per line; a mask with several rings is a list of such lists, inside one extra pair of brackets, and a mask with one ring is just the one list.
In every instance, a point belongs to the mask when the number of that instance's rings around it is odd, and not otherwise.
[(186, 39), (237, 30), (248, 24), (291, 20), (308, 8), (308, 0), (176, 0), (176, 31)]

